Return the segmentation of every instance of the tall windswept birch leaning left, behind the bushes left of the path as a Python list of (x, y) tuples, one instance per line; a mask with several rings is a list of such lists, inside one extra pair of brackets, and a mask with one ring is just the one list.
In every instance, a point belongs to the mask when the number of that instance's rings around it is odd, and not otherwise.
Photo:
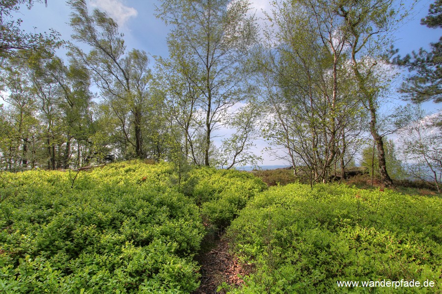
[[(78, 46), (71, 46), (69, 54), (91, 73), (100, 95), (106, 99), (106, 112), (111, 115), (106, 120), (115, 123), (119, 133), (114, 144), (122, 145), (125, 158), (159, 159), (162, 154), (158, 153), (163, 153), (160, 137), (166, 136), (167, 131), (161, 116), (164, 105), (150, 93), (152, 74), (147, 53), (127, 51), (123, 34), (106, 12), (94, 9), (89, 13), (85, 0), (69, 0), (68, 4), (73, 9), (72, 38), (91, 47), (85, 53)], [(143, 138), (148, 143), (143, 143)], [(154, 147), (146, 148), (146, 143)]]

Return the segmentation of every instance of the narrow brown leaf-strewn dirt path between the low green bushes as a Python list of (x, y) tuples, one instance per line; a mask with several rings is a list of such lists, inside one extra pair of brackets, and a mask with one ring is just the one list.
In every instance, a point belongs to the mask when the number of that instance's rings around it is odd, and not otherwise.
[(193, 294), (215, 294), (223, 282), (240, 287), (244, 281), (239, 275), (249, 274), (238, 259), (229, 254), (227, 240), (222, 237), (215, 247), (199, 255), (197, 260), (201, 265), (201, 284)]

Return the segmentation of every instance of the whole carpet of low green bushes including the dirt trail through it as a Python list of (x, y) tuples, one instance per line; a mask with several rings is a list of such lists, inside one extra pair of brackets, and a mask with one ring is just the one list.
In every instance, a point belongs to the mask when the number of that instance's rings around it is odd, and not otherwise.
[(336, 285), (383, 279), (441, 291), (437, 196), (267, 190), (250, 173), (209, 168), (177, 184), (172, 165), (138, 161), (72, 181), (69, 172), (1, 174), (1, 293), (389, 293)]

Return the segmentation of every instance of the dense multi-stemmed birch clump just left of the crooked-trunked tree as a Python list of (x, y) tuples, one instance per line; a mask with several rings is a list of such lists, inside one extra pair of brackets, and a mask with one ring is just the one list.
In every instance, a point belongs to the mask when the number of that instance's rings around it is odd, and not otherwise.
[(342, 22), (325, 3), (308, 0), (274, 3), (269, 20), (277, 29), (267, 33), (266, 52), (257, 57), (273, 109), (266, 136), (285, 146), (312, 182), (326, 181), (346, 154), (350, 117), (360, 114), (359, 97), (348, 91)]

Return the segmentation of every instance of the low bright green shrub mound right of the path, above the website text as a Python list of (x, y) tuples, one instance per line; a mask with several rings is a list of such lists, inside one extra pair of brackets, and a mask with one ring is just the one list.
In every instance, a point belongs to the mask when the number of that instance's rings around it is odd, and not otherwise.
[[(441, 291), (442, 200), (321, 184), (272, 187), (228, 229), (254, 273), (230, 293), (386, 292), (337, 281), (434, 281)], [(228, 287), (226, 287), (228, 289)], [(398, 293), (416, 288), (401, 288)]]

